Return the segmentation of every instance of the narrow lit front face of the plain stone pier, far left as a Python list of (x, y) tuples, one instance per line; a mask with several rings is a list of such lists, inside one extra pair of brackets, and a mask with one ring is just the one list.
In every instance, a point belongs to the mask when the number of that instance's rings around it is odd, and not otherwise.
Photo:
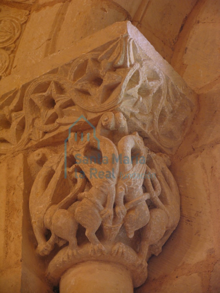
[(13, 166), (1, 164), (1, 292), (19, 292), (21, 288), (22, 161), (20, 154), (14, 158)]

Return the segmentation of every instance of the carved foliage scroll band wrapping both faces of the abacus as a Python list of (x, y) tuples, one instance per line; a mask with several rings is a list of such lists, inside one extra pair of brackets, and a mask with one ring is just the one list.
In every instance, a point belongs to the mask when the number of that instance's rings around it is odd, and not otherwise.
[[(194, 113), (184, 86), (174, 85), (148, 56), (141, 57), (133, 39), (119, 37), (22, 86), (18, 99), (23, 99), (25, 129), (10, 149), (63, 140), (80, 115), (97, 125), (103, 113), (117, 109), (130, 132), (134, 127), (153, 149), (172, 152)], [(7, 150), (1, 146), (1, 152)]]

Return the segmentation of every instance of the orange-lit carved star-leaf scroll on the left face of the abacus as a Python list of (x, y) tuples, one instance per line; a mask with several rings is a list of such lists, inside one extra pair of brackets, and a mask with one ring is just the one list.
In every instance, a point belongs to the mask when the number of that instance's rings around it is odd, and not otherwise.
[(85, 54), (24, 85), (19, 92), (25, 113), (23, 136), (18, 144), (10, 143), (10, 148), (2, 145), (1, 152), (46, 140), (60, 132), (67, 136), (68, 128), (81, 114), (97, 124), (101, 113), (120, 103), (126, 84), (138, 67), (131, 64), (134, 57), (130, 47), (131, 41), (119, 38), (104, 52)]

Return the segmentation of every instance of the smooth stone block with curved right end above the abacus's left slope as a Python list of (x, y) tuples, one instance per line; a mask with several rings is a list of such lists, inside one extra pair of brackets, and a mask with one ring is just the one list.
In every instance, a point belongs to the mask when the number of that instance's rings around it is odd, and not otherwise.
[[(101, 22), (97, 23), (99, 15)], [(74, 0), (68, 6), (54, 52), (71, 47), (83, 38), (117, 21), (131, 20), (129, 13), (114, 1)], [(71, 30), (68, 28), (71, 26)]]

